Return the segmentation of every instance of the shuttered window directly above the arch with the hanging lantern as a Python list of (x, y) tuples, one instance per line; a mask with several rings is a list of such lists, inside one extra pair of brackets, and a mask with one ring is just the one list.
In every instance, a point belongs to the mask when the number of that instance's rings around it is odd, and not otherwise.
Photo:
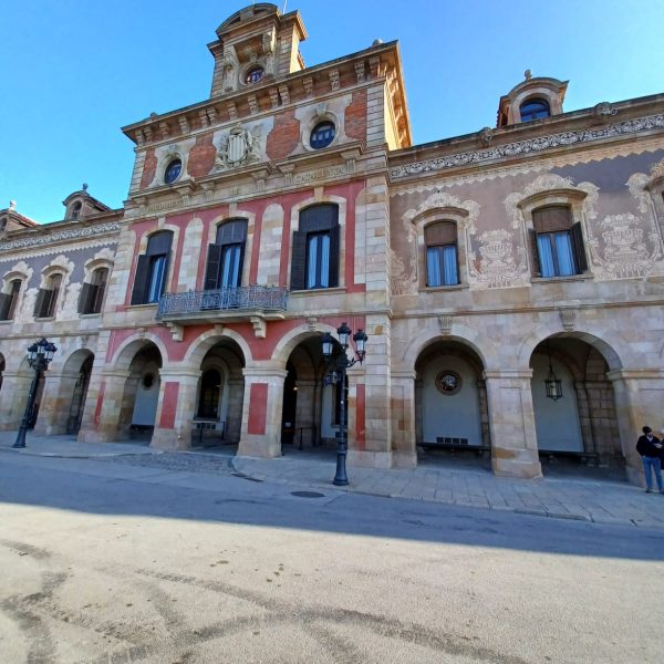
[(532, 210), (530, 251), (536, 277), (568, 277), (588, 270), (581, 224), (567, 205)]

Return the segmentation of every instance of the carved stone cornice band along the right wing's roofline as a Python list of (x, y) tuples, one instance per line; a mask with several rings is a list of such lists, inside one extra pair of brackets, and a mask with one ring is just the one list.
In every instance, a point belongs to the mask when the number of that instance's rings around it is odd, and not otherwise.
[(652, 129), (664, 129), (664, 114), (646, 115), (625, 120), (606, 126), (594, 126), (592, 128), (560, 132), (549, 136), (537, 136), (526, 141), (515, 141), (505, 145), (496, 145), (486, 149), (470, 149), (453, 155), (424, 159), (403, 164), (390, 169), (390, 179), (398, 180), (414, 175), (422, 175), (447, 168), (459, 168), (481, 164), (483, 162), (495, 162), (509, 157), (523, 157), (530, 154), (547, 152), (550, 149), (569, 147), (572, 145), (596, 143), (606, 138), (630, 136)]

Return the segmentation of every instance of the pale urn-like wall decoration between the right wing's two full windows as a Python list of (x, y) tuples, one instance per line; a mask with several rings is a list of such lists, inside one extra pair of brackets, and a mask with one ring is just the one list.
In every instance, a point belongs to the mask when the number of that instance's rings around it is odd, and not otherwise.
[(526, 283), (526, 249), (516, 247), (511, 231), (487, 230), (478, 236), (480, 260), (468, 251), (469, 277), (486, 288), (509, 288)]

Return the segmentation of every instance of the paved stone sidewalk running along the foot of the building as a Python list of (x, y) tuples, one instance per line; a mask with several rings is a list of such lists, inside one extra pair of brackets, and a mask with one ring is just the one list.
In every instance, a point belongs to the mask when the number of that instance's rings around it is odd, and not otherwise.
[[(98, 459), (108, 463), (155, 465), (211, 475), (236, 475), (258, 481), (288, 485), (293, 489), (330, 492), (354, 491), (372, 496), (425, 500), (542, 517), (578, 519), (664, 529), (664, 496), (645, 494), (640, 487), (609, 479), (544, 477), (526, 480), (496, 477), (447, 459), (417, 468), (382, 470), (349, 467), (350, 485), (334, 487), (335, 456), (293, 452), (276, 459), (229, 457), (228, 447), (162, 453), (137, 443), (77, 443), (73, 436), (28, 435), (24, 449), (12, 449), (15, 432), (0, 432), (0, 453), (60, 458)], [(224, 459), (224, 460), (222, 460)], [(0, 457), (1, 463), (1, 457)]]

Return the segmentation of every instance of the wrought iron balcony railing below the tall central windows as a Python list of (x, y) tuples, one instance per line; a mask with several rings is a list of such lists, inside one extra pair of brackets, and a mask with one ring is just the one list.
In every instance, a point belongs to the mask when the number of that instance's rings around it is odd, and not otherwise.
[(195, 318), (222, 312), (284, 312), (288, 289), (276, 286), (238, 286), (208, 291), (166, 293), (159, 299), (157, 319)]

